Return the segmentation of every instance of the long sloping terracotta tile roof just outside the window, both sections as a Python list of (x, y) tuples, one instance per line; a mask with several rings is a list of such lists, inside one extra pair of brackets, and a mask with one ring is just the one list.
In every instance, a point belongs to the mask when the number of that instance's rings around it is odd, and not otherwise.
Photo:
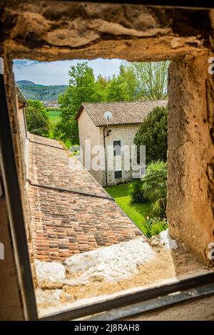
[[(51, 145), (57, 141), (31, 135)], [(86, 170), (69, 168), (66, 150), (29, 143), (29, 180), (106, 195)], [(111, 197), (100, 198), (29, 185), (31, 232), (36, 259), (63, 262), (67, 257), (141, 236)]]

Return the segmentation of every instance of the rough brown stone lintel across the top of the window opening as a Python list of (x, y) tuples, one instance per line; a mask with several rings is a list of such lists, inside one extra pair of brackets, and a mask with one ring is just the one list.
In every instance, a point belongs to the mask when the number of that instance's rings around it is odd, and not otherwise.
[(0, 6), (1, 41), (11, 58), (151, 61), (213, 46), (207, 10), (39, 0)]

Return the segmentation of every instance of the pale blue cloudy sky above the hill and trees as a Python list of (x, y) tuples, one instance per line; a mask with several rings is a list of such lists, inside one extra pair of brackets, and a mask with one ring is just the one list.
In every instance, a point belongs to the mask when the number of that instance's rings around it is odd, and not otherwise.
[[(68, 85), (68, 70), (70, 66), (76, 65), (81, 61), (39, 62), (29, 59), (15, 60), (15, 79), (16, 81), (34, 81), (34, 83), (41, 85)], [(99, 74), (108, 77), (118, 73), (121, 60), (97, 58), (93, 61), (88, 61), (88, 64), (93, 68), (93, 73), (96, 77)]]

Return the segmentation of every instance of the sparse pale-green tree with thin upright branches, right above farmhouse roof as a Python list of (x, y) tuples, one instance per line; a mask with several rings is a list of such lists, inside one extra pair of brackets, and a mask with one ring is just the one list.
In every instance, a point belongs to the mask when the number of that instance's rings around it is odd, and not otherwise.
[(126, 63), (136, 78), (136, 91), (140, 99), (165, 99), (167, 97), (169, 61)]

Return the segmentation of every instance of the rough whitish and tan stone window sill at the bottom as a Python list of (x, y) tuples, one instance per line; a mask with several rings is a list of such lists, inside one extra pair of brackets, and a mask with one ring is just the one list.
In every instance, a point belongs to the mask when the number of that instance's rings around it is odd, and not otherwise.
[[(208, 272), (208, 267), (170, 238), (168, 230), (148, 241), (140, 237), (76, 254), (63, 263), (36, 261), (39, 315), (106, 301)], [(196, 297), (196, 294), (197, 290), (193, 289), (191, 296)], [(124, 309), (137, 314), (138, 304)], [(202, 319), (210, 316), (210, 313), (203, 314), (203, 309), (200, 313)], [(150, 317), (153, 314), (153, 311), (148, 313)], [(112, 317), (118, 319), (121, 315), (124, 314), (113, 309), (105, 317), (106, 320)], [(102, 318), (102, 313), (86, 316), (82, 320), (99, 321), (99, 316)], [(173, 318), (179, 319), (179, 316), (179, 313), (174, 314)], [(187, 317), (191, 317), (191, 313)]]

